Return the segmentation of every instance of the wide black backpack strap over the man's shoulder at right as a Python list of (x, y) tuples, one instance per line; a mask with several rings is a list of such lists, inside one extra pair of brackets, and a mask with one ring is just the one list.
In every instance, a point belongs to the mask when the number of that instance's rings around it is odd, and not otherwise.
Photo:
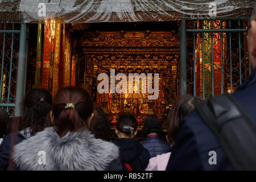
[(235, 170), (256, 169), (256, 127), (231, 94), (196, 106)]

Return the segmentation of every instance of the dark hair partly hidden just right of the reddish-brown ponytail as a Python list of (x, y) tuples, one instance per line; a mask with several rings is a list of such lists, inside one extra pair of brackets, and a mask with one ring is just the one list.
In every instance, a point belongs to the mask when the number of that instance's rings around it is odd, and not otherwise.
[(94, 108), (94, 118), (90, 122), (89, 130), (96, 138), (107, 140), (111, 133), (111, 123), (108, 115), (100, 108)]

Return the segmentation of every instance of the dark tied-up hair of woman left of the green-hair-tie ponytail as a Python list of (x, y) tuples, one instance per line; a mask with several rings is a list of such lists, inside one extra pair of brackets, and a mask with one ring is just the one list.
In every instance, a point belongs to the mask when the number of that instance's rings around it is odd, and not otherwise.
[(19, 130), (31, 127), (32, 135), (51, 126), (46, 122), (46, 115), (52, 107), (52, 95), (48, 90), (34, 89), (28, 92), (24, 100), (23, 120)]

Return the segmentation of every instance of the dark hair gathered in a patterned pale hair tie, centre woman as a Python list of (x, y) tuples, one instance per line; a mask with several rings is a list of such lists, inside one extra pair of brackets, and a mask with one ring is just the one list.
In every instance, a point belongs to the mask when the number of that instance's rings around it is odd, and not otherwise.
[[(137, 120), (133, 117), (133, 115), (122, 115), (117, 119), (116, 126), (118, 131), (124, 133), (126, 136), (131, 136), (131, 134), (133, 134), (134, 131), (137, 130), (138, 123)], [(131, 130), (123, 128), (123, 126), (133, 127), (133, 133), (131, 132)]]

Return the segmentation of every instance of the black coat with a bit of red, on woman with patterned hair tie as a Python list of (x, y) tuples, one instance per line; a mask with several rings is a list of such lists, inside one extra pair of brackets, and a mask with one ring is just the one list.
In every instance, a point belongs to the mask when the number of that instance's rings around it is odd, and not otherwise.
[(150, 154), (138, 139), (119, 138), (113, 143), (119, 147), (122, 171), (127, 171), (124, 163), (128, 163), (133, 171), (143, 171), (150, 160)]

